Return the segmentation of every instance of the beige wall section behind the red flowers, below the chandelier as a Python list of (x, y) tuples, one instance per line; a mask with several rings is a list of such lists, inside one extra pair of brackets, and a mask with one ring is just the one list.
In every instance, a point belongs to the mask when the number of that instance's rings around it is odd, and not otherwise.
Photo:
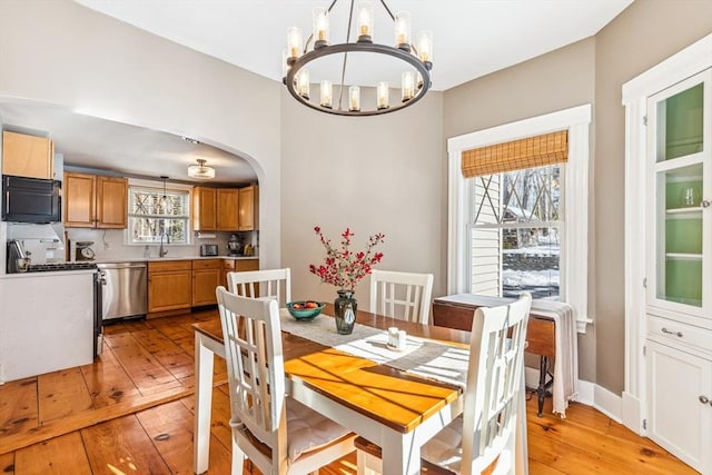
[[(349, 227), (353, 249), (384, 232), (382, 269), (433, 273), (442, 296), (445, 151), (442, 93), (397, 113), (337, 117), (298, 105), (283, 91), (281, 256), (293, 271), (293, 298), (334, 300), (336, 289), (308, 274), (325, 257), (314, 226), (335, 245)], [(356, 288), (368, 309), (368, 278)]]

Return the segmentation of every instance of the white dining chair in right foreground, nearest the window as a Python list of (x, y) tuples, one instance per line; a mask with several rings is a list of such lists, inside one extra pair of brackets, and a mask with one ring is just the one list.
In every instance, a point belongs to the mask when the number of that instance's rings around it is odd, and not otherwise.
[[(422, 447), (427, 473), (527, 473), (526, 437), (518, 432), (526, 431), (524, 347), (531, 305), (531, 294), (522, 293), (512, 304), (475, 310), (463, 414)], [(382, 473), (380, 448), (363, 437), (355, 444), (358, 474)], [(523, 444), (520, 457), (517, 444)]]

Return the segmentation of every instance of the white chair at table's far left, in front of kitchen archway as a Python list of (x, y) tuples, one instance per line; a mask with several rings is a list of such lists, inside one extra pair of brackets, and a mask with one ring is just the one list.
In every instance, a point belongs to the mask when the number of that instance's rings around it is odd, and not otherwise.
[(291, 301), (289, 268), (228, 273), (227, 286), (233, 294), (244, 297), (275, 297), (281, 306)]

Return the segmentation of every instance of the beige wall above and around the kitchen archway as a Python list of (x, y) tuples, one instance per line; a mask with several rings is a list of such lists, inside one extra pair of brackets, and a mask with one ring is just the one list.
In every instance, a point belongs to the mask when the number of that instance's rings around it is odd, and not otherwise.
[[(263, 217), (279, 216), (280, 89), (70, 0), (0, 1), (0, 101), (52, 103), (239, 155), (257, 172)], [(279, 265), (279, 220), (263, 219), (267, 266)]]

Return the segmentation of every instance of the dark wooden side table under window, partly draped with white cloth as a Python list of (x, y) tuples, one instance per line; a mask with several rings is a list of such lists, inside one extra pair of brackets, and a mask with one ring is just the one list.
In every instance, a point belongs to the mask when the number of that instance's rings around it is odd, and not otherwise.
[[(455, 301), (453, 296), (436, 298), (433, 300), (433, 325), (469, 331), (477, 307), (478, 305), (469, 301)], [(540, 417), (542, 417), (546, 393), (554, 383), (551, 368), (552, 359), (556, 355), (555, 330), (554, 320), (536, 315), (534, 311), (530, 313), (526, 327), (526, 353), (540, 356), (538, 386), (536, 387)]]

